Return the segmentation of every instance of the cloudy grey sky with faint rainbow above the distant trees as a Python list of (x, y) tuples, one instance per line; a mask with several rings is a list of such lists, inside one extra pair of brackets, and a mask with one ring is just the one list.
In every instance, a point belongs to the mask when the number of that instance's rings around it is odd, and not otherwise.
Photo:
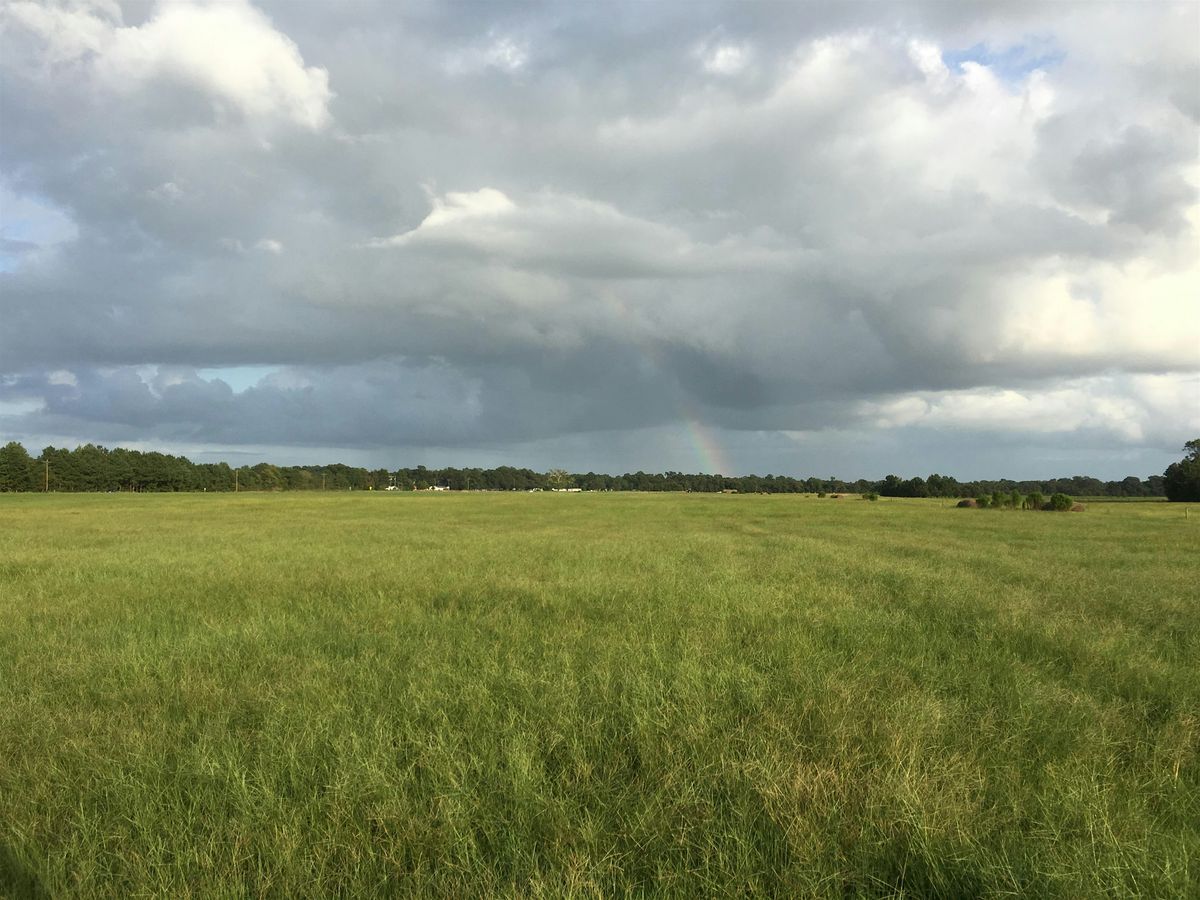
[(0, 2), (0, 439), (1157, 474), (1200, 4)]

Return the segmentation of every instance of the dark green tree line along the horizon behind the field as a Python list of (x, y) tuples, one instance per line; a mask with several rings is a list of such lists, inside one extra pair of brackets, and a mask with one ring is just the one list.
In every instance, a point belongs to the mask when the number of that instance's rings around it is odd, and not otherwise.
[[(1192, 479), (1200, 486), (1200, 442), (1184, 448), (1189, 457), (1174, 463), (1165, 475), (1121, 481), (1102, 481), (1087, 475), (1044, 481), (959, 481), (949, 475), (901, 479), (888, 475), (880, 481), (839, 478), (793, 478), (790, 475), (709, 475), (682, 472), (607, 475), (595, 472), (566, 473), (559, 469), (539, 473), (500, 466), (482, 468), (430, 469), (425, 466), (400, 469), (367, 469), (334, 463), (330, 466), (230, 467), (228, 463), (196, 463), (184, 456), (143, 452), (124, 448), (106, 449), (84, 444), (74, 450), (48, 446), (37, 457), (11, 442), (0, 448), (0, 491), (420, 491), (433, 487), (451, 491), (538, 491), (575, 487), (583, 491), (694, 491), (718, 493), (878, 493), (883, 497), (978, 497), (1019, 491), (1066, 493), (1074, 497), (1164, 497), (1178, 493), (1172, 476), (1184, 490)], [(1182, 476), (1180, 469), (1182, 467)], [(1200, 499), (1178, 496), (1177, 499)]]

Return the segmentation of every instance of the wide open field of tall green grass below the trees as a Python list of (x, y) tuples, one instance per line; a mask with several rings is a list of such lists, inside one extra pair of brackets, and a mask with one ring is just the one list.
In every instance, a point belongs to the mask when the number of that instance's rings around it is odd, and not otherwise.
[(1194, 896), (1198, 551), (1175, 504), (0, 496), (0, 894)]

